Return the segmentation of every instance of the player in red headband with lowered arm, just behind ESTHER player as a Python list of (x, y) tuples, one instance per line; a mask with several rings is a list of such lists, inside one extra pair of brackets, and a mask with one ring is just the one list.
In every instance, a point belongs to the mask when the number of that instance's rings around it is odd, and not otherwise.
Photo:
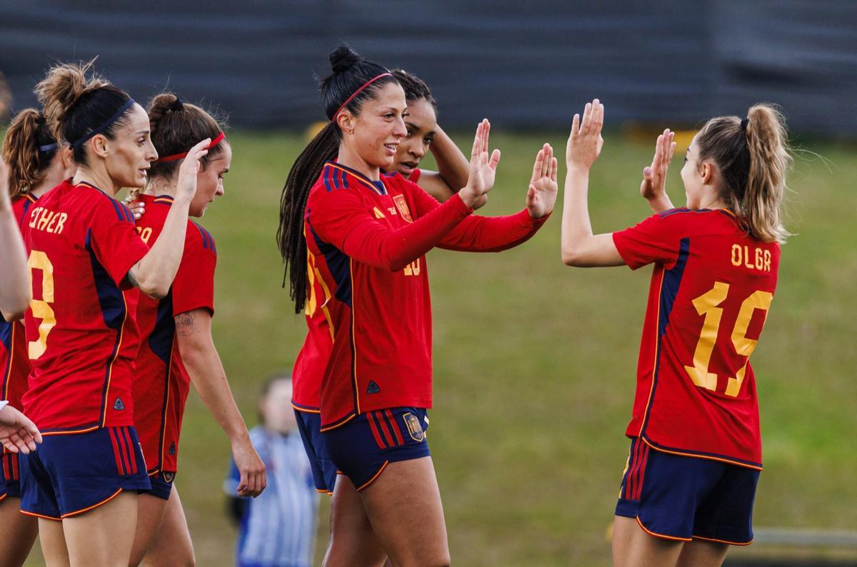
[[(189, 148), (208, 139), (200, 160), (196, 194), (189, 216), (202, 217), (223, 194), (232, 150), (221, 125), (195, 104), (164, 93), (149, 105), (151, 138), (161, 156), (149, 170), (146, 193), (139, 199), (146, 213), (137, 222), (143, 241), (163, 235), (175, 206), (180, 168)], [(131, 564), (192, 565), (194, 549), (173, 479), (178, 469), (178, 441), (184, 403), (193, 382), (202, 402), (229, 437), (241, 474), (238, 496), (257, 496), (265, 488), (265, 465), (250, 442), (211, 334), (214, 313), (214, 266), (217, 248), (211, 234), (188, 221), (184, 254), (170, 293), (160, 300), (141, 297), (137, 321), (141, 348), (135, 369), (135, 426), (140, 435), (152, 491), (138, 507), (137, 535)]]

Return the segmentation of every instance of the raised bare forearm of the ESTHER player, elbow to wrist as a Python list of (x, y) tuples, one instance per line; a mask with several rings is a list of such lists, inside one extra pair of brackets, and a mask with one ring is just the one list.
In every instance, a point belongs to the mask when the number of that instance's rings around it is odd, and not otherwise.
[(129, 272), (131, 283), (147, 295), (164, 297), (176, 278), (184, 252), (189, 205), (189, 200), (173, 202), (158, 240)]

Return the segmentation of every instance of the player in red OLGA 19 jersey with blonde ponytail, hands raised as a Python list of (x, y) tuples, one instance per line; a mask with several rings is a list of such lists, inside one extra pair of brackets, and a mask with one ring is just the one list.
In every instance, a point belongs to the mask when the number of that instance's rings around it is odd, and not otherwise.
[(665, 192), (672, 136), (657, 142), (641, 192), (659, 210), (593, 236), (589, 170), (601, 151), (604, 107), (575, 115), (562, 258), (569, 266), (654, 264), (626, 435), (631, 452), (614, 522), (614, 564), (720, 565), (728, 544), (752, 541), (762, 468), (749, 357), (776, 288), (789, 157), (782, 116), (752, 106), (712, 118), (687, 149), (687, 204)]

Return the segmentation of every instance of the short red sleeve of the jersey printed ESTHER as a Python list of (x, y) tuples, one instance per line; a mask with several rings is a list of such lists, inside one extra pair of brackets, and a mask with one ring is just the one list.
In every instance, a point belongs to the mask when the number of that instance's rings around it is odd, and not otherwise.
[(109, 197), (93, 201), (89, 245), (113, 282), (128, 289), (130, 284), (125, 276), (148, 253), (149, 247), (137, 233), (128, 207)]

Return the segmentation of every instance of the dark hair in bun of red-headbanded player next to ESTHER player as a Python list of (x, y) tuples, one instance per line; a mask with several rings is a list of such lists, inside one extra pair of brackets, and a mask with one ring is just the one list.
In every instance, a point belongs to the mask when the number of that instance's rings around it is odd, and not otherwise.
[[(223, 131), (225, 124), (215, 119), (196, 104), (182, 102), (175, 94), (161, 93), (149, 103), (149, 127), (152, 143), (160, 158), (186, 153), (190, 148)], [(202, 169), (224, 151), (225, 140), (208, 150), (200, 159)], [(180, 159), (158, 161), (152, 164), (149, 177), (170, 178), (178, 170)]]

